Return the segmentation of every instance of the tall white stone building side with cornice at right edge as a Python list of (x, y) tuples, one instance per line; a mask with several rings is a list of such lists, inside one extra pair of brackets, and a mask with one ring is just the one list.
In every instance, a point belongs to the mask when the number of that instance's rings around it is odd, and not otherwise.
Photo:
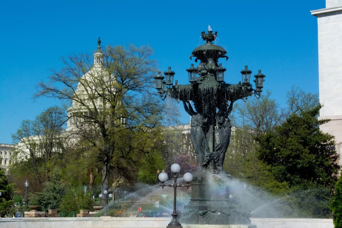
[(342, 0), (326, 0), (326, 8), (311, 14), (318, 24), (319, 119), (331, 119), (320, 129), (335, 136), (342, 165)]

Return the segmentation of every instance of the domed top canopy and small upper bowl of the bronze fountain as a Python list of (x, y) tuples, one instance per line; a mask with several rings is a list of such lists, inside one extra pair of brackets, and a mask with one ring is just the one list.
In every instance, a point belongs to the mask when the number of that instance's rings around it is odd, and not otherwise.
[(223, 55), (227, 54), (227, 51), (221, 46), (212, 43), (212, 41), (217, 37), (217, 32), (213, 34), (212, 31), (208, 31), (208, 34), (206, 34), (204, 31), (202, 31), (201, 36), (202, 39), (207, 42), (206, 44), (195, 48), (192, 52), (193, 56), (200, 59), (201, 62), (208, 62), (208, 58), (213, 58), (215, 63), (218, 62), (220, 57), (226, 57)]

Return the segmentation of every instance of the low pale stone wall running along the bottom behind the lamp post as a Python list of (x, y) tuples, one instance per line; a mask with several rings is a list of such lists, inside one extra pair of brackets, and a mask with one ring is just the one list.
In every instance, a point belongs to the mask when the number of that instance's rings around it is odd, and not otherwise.
[[(0, 218), (1, 228), (165, 228), (171, 218)], [(251, 218), (257, 228), (333, 228), (332, 219), (308, 218)], [(184, 225), (186, 228), (199, 228), (200, 225)], [(206, 225), (209, 228), (209, 225)]]

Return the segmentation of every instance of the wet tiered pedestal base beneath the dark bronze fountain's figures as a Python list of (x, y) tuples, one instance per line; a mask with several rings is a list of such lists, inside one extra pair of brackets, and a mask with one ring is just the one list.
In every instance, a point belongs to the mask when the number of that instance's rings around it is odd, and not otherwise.
[(238, 210), (238, 202), (230, 198), (229, 182), (225, 172), (212, 174), (197, 171), (191, 183), (191, 199), (184, 206), (179, 220), (183, 224), (242, 225), (253, 228), (247, 212)]

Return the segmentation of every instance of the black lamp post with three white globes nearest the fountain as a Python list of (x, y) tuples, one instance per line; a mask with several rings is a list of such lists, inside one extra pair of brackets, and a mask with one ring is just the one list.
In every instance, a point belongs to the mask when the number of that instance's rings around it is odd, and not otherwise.
[(158, 178), (161, 182), (160, 186), (162, 188), (164, 188), (164, 186), (169, 186), (169, 187), (173, 187), (173, 212), (172, 212), (172, 220), (169, 223), (169, 225), (167, 226), (167, 228), (172, 228), (172, 227), (182, 227), (182, 225), (177, 221), (177, 210), (176, 210), (176, 199), (177, 199), (177, 187), (186, 187), (189, 188), (191, 186), (191, 184), (189, 184), (192, 179), (193, 176), (191, 173), (185, 173), (183, 175), (183, 179), (186, 182), (186, 185), (180, 185), (177, 184), (177, 173), (179, 173), (179, 171), (181, 171), (181, 166), (179, 166), (179, 164), (173, 164), (171, 165), (171, 171), (174, 174), (173, 175), (173, 184), (164, 184), (164, 182), (166, 182), (166, 180), (168, 179), (168, 175), (165, 172), (161, 172), (158, 175)]

